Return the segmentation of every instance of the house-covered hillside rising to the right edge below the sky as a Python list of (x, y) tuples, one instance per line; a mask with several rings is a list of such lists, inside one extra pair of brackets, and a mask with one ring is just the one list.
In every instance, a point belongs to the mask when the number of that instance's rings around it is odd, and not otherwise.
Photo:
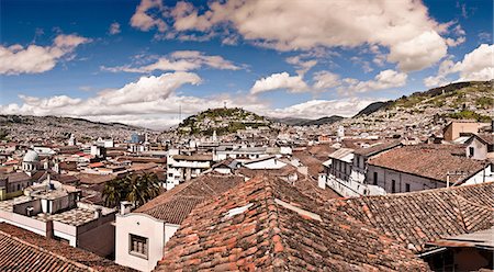
[(493, 81), (459, 82), (370, 104), (352, 118), (335, 125), (355, 127), (360, 132), (385, 132), (390, 136), (398, 131), (430, 135), (451, 120), (487, 123), (493, 118)]

